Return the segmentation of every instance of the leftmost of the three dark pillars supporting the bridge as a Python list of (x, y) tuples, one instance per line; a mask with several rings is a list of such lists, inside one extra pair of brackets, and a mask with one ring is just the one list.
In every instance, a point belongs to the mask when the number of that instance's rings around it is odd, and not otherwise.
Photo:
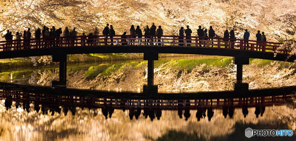
[(59, 81), (52, 81), (52, 87), (65, 88), (68, 85), (67, 81), (67, 61), (69, 60), (67, 54), (52, 55), (53, 62), (59, 62)]

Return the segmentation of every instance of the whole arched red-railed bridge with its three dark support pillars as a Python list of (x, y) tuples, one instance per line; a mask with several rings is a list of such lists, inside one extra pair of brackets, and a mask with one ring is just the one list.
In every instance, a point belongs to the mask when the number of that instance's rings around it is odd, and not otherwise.
[[(1, 41), (0, 59), (52, 55), (53, 61), (59, 62), (60, 65), (59, 81), (54, 81), (53, 86), (65, 87), (67, 85), (67, 54), (144, 53), (144, 60), (148, 60), (148, 85), (143, 89), (144, 92), (157, 92), (153, 70), (154, 60), (158, 60), (159, 53), (233, 56), (234, 64), (237, 65), (235, 90), (248, 89), (248, 84), (242, 83), (242, 66), (249, 64), (249, 58), (285, 61), (289, 56), (286, 50), (279, 50), (281, 43), (241, 39), (225, 41), (229, 39), (195, 36), (190, 38), (185, 36), (155, 37), (157, 38), (148, 36), (139, 40), (136, 36), (115, 35), (111, 37), (77, 36)], [(114, 45), (109, 46), (108, 43)], [(277, 54), (276, 57), (274, 57), (274, 53)], [(293, 62), (295, 59), (295, 56), (291, 56), (287, 61)]]

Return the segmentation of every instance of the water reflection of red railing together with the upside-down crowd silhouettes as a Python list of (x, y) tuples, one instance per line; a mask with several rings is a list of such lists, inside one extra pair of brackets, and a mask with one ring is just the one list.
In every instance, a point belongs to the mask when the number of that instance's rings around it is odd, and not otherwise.
[[(76, 108), (80, 107), (98, 109), (101, 108), (102, 114), (107, 119), (108, 113), (111, 118), (114, 109), (122, 109), (129, 111), (130, 119), (135, 116), (136, 119), (141, 115), (153, 120), (155, 116), (160, 119), (163, 110), (178, 110), (178, 116), (182, 118), (183, 110), (185, 120), (190, 117), (190, 110), (197, 110), (196, 117), (199, 121), (200, 118), (206, 116), (210, 121), (213, 117), (213, 109), (222, 109), (224, 117), (232, 118), (234, 109), (241, 108), (244, 117), (247, 116), (248, 108), (255, 107), (255, 114), (263, 116), (265, 107), (274, 105), (285, 105), (293, 102), (294, 95), (274, 95), (262, 97), (247, 97), (247, 98), (217, 98), (217, 99), (179, 99), (179, 100), (166, 100), (166, 99), (118, 99), (118, 98), (100, 98), (96, 95), (78, 96), (78, 95), (48, 95), (38, 93), (20, 93), (10, 90), (0, 91), (0, 100), (4, 99), (4, 106), (9, 109), (12, 102), (15, 101), (16, 107), (21, 107), (29, 112), (30, 104), (33, 104), (34, 110), (40, 110), (43, 114), (52, 114), (55, 112), (67, 114), (70, 110), (73, 115), (76, 113)], [(62, 106), (62, 109), (60, 108)], [(96, 110), (95, 110), (96, 111)], [(50, 113), (48, 113), (50, 112)]]

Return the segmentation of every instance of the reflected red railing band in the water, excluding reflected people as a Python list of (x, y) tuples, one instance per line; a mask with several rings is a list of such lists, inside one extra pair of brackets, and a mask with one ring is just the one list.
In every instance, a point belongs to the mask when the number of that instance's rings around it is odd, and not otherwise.
[[(65, 106), (104, 109), (148, 109), (148, 110), (196, 110), (204, 108), (222, 109), (224, 107), (265, 107), (293, 102), (293, 95), (272, 95), (246, 98), (216, 99), (118, 99), (100, 98), (96, 95), (47, 95), (38, 93), (20, 93), (9, 90), (0, 92), (0, 99), (46, 106)], [(25, 108), (25, 107), (24, 107)], [(28, 110), (28, 109), (27, 109)]]

